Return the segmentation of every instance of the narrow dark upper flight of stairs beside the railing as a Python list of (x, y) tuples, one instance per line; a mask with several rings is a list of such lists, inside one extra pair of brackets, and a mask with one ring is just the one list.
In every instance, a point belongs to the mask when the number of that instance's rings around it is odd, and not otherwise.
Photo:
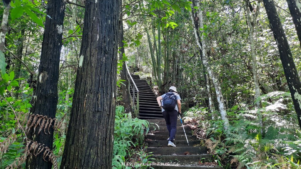
[[(139, 75), (131, 75), (139, 90), (139, 118), (140, 119), (164, 119), (157, 103), (156, 96), (147, 81), (141, 80)], [(132, 81), (130, 82), (133, 86)], [(132, 88), (130, 88), (132, 94)], [(137, 94), (137, 91), (135, 91)]]

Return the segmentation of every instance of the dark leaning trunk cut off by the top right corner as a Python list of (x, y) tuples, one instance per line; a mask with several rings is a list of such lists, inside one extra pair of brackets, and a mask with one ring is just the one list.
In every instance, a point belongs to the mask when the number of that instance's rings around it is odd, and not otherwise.
[(301, 3), (300, 0), (286, 0), (286, 2), (290, 9), (290, 14), (292, 15), (301, 47)]

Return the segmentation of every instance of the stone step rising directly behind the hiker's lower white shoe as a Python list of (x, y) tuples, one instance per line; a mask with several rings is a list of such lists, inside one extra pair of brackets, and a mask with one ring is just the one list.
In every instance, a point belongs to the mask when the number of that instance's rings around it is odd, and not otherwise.
[[(152, 140), (152, 141), (146, 140), (145, 143), (148, 144), (148, 147), (160, 147), (160, 146), (167, 146), (168, 141), (167, 140)], [(200, 144), (200, 141), (199, 140), (188, 141), (189, 146), (188, 146), (186, 140), (175, 140), (173, 143), (177, 147), (193, 147), (194, 145)]]

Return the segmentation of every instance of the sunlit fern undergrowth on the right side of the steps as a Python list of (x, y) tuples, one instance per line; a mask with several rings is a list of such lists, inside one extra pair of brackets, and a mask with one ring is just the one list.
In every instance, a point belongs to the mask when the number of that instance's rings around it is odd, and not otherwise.
[(194, 107), (186, 115), (209, 122), (209, 128), (201, 125), (206, 129), (206, 146), (224, 168), (301, 168), (301, 131), (290, 94), (276, 91), (258, 99), (260, 109), (249, 110), (244, 103), (228, 109), (231, 126), (227, 131), (223, 121), (212, 120), (204, 108)]

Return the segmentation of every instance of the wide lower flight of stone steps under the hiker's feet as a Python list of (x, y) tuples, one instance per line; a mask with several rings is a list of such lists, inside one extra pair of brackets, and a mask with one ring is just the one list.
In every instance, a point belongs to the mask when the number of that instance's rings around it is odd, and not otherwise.
[(200, 140), (192, 135), (192, 131), (188, 126), (185, 126), (185, 123), (183, 124), (189, 146), (182, 124), (178, 120), (174, 141), (177, 147), (168, 147), (167, 138), (169, 137), (169, 132), (167, 131), (165, 120), (148, 119), (147, 121), (150, 122), (150, 133), (145, 139), (145, 143), (148, 144), (147, 152), (153, 152), (152, 158), (156, 159), (154, 161), (155, 165), (151, 167), (155, 169), (222, 169), (222, 167), (215, 167), (211, 163), (205, 163), (212, 161), (212, 155), (207, 154), (206, 147), (197, 146), (200, 144)]

